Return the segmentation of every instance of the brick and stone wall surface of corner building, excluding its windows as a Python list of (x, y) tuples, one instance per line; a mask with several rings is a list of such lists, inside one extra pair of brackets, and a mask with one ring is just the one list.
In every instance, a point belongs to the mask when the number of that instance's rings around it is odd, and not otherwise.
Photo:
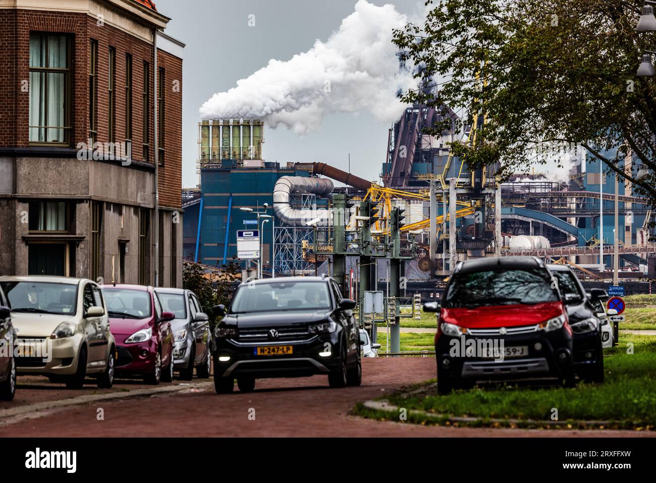
[[(130, 0), (137, 3), (136, 0)], [(19, 2), (20, 3), (20, 2)], [(93, 3), (93, 1), (91, 1)], [(139, 2), (154, 10), (152, 2)], [(79, 4), (77, 4), (79, 5)], [(96, 5), (96, 4), (94, 4)], [(139, 16), (133, 12), (121, 10), (121, 2), (110, 0), (98, 2), (98, 8), (110, 9), (104, 21), (92, 12), (77, 11), (44, 11), (18, 8), (0, 8), (0, 274), (26, 273), (27, 255), (22, 255), (29, 244), (25, 242), (29, 236), (20, 224), (14, 226), (13, 217), (5, 217), (11, 211), (24, 210), (26, 203), (34, 199), (70, 200), (77, 208), (76, 217), (89, 216), (90, 200), (104, 203), (104, 239), (102, 246), (103, 261), (101, 272), (106, 272), (112, 266), (108, 257), (115, 255), (116, 240), (108, 239), (109, 234), (119, 240), (138, 239), (138, 229), (122, 225), (129, 222), (128, 217), (112, 216), (117, 209), (121, 213), (133, 213), (139, 207), (152, 207), (154, 203), (154, 152), (155, 152), (155, 73), (152, 33), (155, 27), (165, 25), (168, 19), (158, 16), (154, 23), (148, 15)], [(0, 5), (1, 7), (1, 5)], [(127, 27), (135, 26), (131, 31)], [(70, 143), (68, 146), (49, 146), (30, 144), (29, 140), (29, 109), (30, 109), (30, 33), (65, 33), (70, 39)], [(148, 37), (150, 35), (150, 38)], [(96, 72), (96, 140), (100, 144), (106, 142), (125, 142), (125, 67), (126, 56), (133, 59), (132, 85), (132, 159), (130, 165), (121, 165), (116, 161), (79, 161), (77, 149), (79, 143), (88, 144), (89, 139), (89, 42), (93, 39), (98, 45), (98, 60)], [(115, 49), (114, 77), (114, 133), (110, 140), (110, 107), (109, 107), (109, 58), (110, 47)], [(144, 62), (150, 69), (148, 92), (149, 143), (148, 159), (144, 159), (142, 148), (143, 138), (143, 83)], [(168, 223), (176, 210), (181, 207), (182, 190), (182, 58), (167, 51), (158, 49), (158, 68), (165, 72), (165, 137), (163, 143), (165, 159), (160, 163), (159, 175), (159, 205), (163, 208)], [(174, 84), (173, 81), (176, 81)], [(145, 162), (144, 162), (145, 161)], [(75, 176), (63, 174), (66, 169), (75, 169)], [(150, 180), (148, 179), (150, 177)], [(77, 182), (73, 189), (72, 180)], [(121, 186), (121, 184), (123, 186)], [(121, 207), (121, 208), (117, 208)], [(17, 213), (17, 212), (16, 212)], [(85, 215), (85, 213), (87, 213)], [(154, 212), (153, 212), (154, 213)], [(182, 215), (180, 213), (180, 219)], [(152, 222), (154, 222), (154, 214)], [(120, 228), (113, 223), (121, 224)], [(89, 226), (81, 223), (72, 227), (71, 236), (78, 240), (71, 275), (89, 276)], [(167, 234), (176, 240), (182, 238), (182, 223), (180, 226), (161, 227), (160, 233)], [(127, 236), (124, 231), (131, 230)], [(179, 231), (172, 235), (172, 230)], [(134, 234), (136, 233), (136, 237)], [(53, 240), (55, 240), (53, 238)], [(150, 240), (154, 242), (154, 239)], [(73, 242), (72, 243), (73, 246)], [(123, 243), (123, 242), (121, 242)], [(138, 252), (136, 243), (129, 242), (131, 256)], [(22, 245), (21, 245), (22, 244)], [(160, 236), (160, 244), (162, 236)], [(168, 242), (164, 243), (171, 246)], [(20, 245), (20, 246), (19, 246)], [(24, 245), (24, 246), (23, 246)], [(179, 245), (179, 249), (176, 245)], [(181, 243), (174, 243), (179, 251), (180, 262)], [(151, 246), (152, 248), (152, 246)], [(133, 255), (134, 254), (134, 255)], [(171, 263), (174, 253), (169, 248), (160, 251), (160, 271), (165, 274), (173, 272)], [(73, 256), (73, 255), (72, 255)], [(12, 258), (13, 257), (13, 258)], [(164, 260), (164, 262), (163, 262)], [(163, 263), (166, 264), (163, 267)], [(154, 271), (154, 263), (150, 263), (150, 272)], [(179, 285), (180, 276), (162, 276), (160, 285)], [(136, 283), (131, 280), (126, 282)], [(154, 283), (152, 280), (150, 283)]]

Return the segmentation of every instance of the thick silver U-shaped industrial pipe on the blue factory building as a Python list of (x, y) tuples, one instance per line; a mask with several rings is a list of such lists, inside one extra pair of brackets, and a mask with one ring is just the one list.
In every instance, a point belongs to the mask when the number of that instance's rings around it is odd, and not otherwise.
[(289, 205), (291, 193), (314, 193), (325, 196), (333, 191), (333, 182), (325, 178), (283, 176), (274, 186), (274, 213), (287, 226), (308, 226), (309, 221), (319, 219), (316, 224), (326, 225), (330, 219), (327, 209), (295, 209)]

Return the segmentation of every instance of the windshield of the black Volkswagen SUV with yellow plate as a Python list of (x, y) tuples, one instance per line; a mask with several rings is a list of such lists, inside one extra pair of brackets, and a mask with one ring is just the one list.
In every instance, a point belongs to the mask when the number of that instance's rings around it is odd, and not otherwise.
[(274, 282), (247, 284), (237, 290), (231, 314), (330, 308), (325, 282)]

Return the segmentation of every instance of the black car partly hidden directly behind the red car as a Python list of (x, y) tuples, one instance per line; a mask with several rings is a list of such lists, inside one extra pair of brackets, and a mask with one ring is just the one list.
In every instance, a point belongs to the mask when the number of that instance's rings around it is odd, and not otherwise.
[(597, 318), (593, 301), (603, 300), (606, 293), (602, 289), (592, 289), (588, 297), (583, 284), (568, 266), (552, 264), (548, 268), (558, 279), (574, 333), (574, 370), (585, 381), (601, 383), (604, 381), (602, 321)]

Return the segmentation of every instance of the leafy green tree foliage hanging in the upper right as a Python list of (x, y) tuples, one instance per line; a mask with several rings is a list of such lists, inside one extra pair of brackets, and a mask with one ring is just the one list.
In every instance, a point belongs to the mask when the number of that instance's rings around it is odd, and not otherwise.
[[(456, 143), (455, 154), (474, 166), (499, 163), (507, 177), (545, 163), (545, 143), (580, 143), (638, 196), (656, 199), (656, 80), (636, 76), (656, 35), (635, 32), (642, 0), (434, 5), (423, 26), (394, 32), (402, 60), (419, 66), (419, 85), (435, 87), (401, 100), (484, 116), (478, 142)], [(618, 161), (628, 153), (648, 169), (625, 172)]]

